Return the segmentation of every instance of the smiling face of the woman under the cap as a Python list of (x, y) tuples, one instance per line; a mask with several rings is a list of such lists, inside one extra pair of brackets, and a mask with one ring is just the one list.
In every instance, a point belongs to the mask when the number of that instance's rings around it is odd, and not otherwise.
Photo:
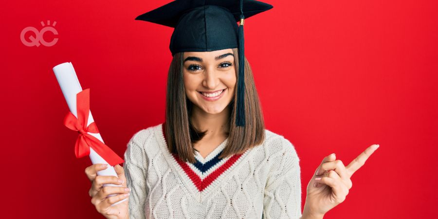
[(234, 97), (236, 70), (232, 49), (184, 52), (185, 94), (209, 114), (222, 112)]

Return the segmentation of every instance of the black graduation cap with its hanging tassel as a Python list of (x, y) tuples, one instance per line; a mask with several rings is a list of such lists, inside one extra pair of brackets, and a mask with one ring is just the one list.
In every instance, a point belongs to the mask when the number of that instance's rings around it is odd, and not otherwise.
[(271, 8), (257, 0), (175, 0), (135, 19), (175, 28), (169, 45), (172, 55), (238, 48), (236, 126), (244, 127), (243, 21)]

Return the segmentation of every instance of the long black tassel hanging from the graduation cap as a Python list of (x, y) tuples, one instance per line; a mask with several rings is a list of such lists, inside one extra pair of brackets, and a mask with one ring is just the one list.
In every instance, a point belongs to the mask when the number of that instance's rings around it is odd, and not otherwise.
[(245, 127), (245, 51), (243, 40), (243, 0), (240, 0), (239, 23), (239, 73), (237, 83), (237, 110), (236, 126)]

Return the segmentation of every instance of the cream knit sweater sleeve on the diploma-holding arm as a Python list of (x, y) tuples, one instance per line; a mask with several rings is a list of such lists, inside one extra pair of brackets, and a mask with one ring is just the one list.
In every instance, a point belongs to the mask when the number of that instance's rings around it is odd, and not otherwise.
[[(142, 130), (143, 132), (145, 130)], [(131, 189), (128, 198), (129, 219), (146, 219), (146, 171), (147, 161), (144, 149), (144, 133), (137, 132), (129, 141), (125, 152), (125, 170), (127, 187)]]

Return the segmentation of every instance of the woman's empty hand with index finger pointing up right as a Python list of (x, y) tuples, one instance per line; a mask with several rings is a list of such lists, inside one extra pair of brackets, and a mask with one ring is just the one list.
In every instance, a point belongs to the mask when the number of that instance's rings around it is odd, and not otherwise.
[(341, 160), (336, 160), (334, 153), (325, 157), (307, 185), (303, 216), (322, 218), (330, 209), (343, 202), (353, 185), (351, 176), (378, 147), (379, 145), (369, 146), (347, 166)]

